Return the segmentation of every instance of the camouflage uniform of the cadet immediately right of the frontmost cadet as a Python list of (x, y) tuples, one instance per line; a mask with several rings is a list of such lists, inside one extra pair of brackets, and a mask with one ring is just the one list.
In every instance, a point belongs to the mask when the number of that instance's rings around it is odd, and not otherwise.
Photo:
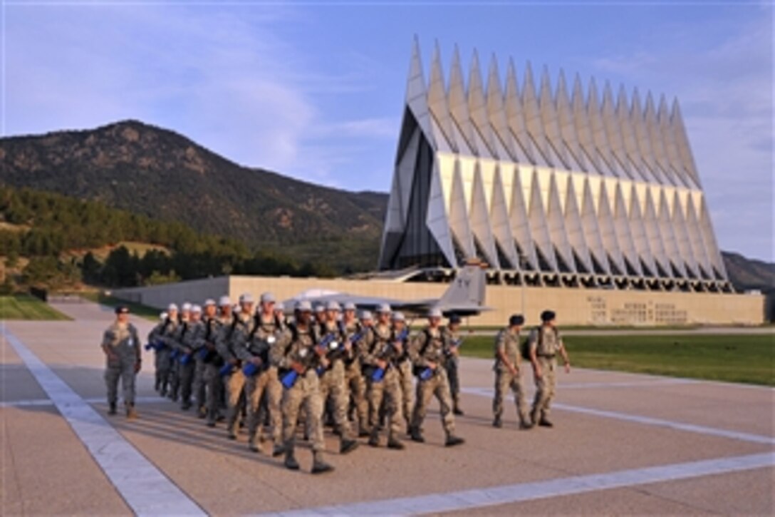
[[(347, 404), (350, 403), (350, 394), (347, 393), (343, 360), (346, 355), (343, 348), (346, 335), (338, 324), (328, 321), (319, 328), (319, 332), (318, 341), (326, 335), (334, 335), (335, 346), (338, 347), (336, 350), (329, 349), (326, 354), (329, 359), (329, 367), (320, 374), (320, 397), (324, 408), (326, 404), (329, 404), (330, 398), (335, 429), (339, 432), (344, 443), (352, 439), (350, 421), (347, 420)], [(322, 416), (321, 413), (321, 418)]]

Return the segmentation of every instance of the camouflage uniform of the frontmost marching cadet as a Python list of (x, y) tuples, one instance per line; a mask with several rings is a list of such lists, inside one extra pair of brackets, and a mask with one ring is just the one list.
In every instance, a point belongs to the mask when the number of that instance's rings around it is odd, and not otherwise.
[(285, 465), (288, 468), (298, 469), (298, 463), (295, 463), (294, 458), (294, 447), (298, 413), (302, 405), (304, 406), (309, 438), (312, 441), (315, 463), (322, 462), (322, 453), (325, 450), (323, 427), (320, 422), (323, 401), (320, 397), (318, 373), (315, 371), (319, 365), (319, 359), (315, 353), (315, 335), (308, 328), (300, 328), (293, 324), (291, 325), (289, 344), (282, 349), (281, 347), (274, 348), (272, 353), (274, 354), (273, 363), (277, 364), (281, 379), (291, 374), (294, 363), (305, 366), (304, 373), (299, 373), (298, 378), (290, 387), (283, 387), (281, 405)]

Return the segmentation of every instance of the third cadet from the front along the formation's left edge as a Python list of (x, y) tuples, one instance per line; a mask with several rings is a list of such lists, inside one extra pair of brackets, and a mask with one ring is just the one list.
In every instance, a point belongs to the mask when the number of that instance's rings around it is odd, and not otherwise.
[[(221, 355), (226, 370), (223, 375), (223, 384), (226, 387), (226, 435), (231, 440), (237, 439), (237, 417), (243, 398), (245, 386), (245, 374), (242, 371), (242, 363), (236, 356), (234, 345), (239, 333), (244, 333), (253, 317), (253, 296), (245, 293), (239, 297), (239, 312), (234, 314), (232, 323), (222, 328), (217, 343), (218, 353)], [(226, 368), (226, 365), (229, 368)], [(221, 372), (219, 372), (221, 373)]]

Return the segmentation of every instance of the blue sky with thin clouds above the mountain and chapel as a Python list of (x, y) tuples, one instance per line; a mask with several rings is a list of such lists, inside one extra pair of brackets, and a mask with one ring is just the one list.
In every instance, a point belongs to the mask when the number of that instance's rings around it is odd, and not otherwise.
[(719, 245), (773, 259), (770, 2), (4, 2), (5, 135), (133, 118), (387, 191), (412, 40), (677, 97)]

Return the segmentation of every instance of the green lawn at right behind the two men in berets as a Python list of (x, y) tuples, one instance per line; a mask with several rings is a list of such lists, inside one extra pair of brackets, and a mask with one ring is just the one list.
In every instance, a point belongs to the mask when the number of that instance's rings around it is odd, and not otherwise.
[[(775, 386), (772, 335), (626, 335), (564, 338), (571, 366)], [(494, 337), (466, 338), (463, 356), (493, 357)]]

